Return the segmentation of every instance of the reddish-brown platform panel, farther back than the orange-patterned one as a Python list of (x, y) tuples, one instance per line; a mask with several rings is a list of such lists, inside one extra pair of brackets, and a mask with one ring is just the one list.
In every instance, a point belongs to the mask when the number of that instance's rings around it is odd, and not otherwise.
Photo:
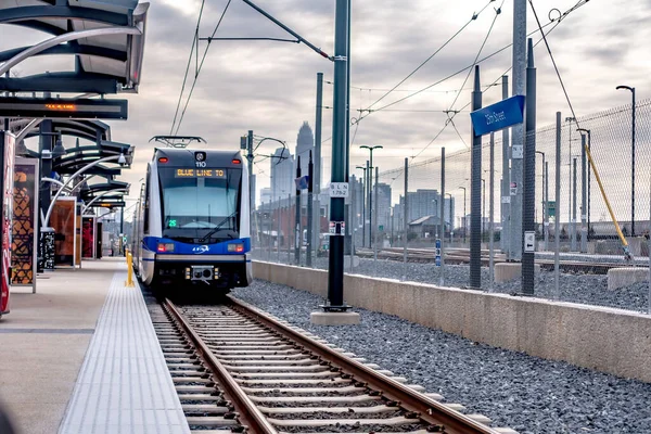
[(54, 228), (54, 265), (75, 265), (76, 197), (60, 197), (54, 203), (50, 226)]

